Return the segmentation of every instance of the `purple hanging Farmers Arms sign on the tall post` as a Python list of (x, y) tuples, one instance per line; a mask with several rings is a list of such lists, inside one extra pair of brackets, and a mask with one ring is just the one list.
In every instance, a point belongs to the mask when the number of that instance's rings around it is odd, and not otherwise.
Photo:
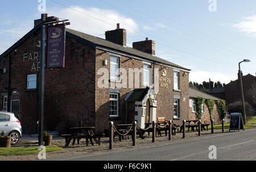
[(65, 67), (65, 37), (65, 24), (47, 28), (47, 69)]

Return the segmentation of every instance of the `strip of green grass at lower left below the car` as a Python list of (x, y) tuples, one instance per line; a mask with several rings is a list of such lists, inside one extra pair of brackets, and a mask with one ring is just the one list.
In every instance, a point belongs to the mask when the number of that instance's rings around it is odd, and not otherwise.
[[(56, 152), (62, 150), (59, 146), (46, 146), (46, 152)], [(38, 150), (38, 146), (23, 146), (13, 148), (0, 148), (1, 156), (22, 156), (27, 154), (37, 154), (41, 150)]]

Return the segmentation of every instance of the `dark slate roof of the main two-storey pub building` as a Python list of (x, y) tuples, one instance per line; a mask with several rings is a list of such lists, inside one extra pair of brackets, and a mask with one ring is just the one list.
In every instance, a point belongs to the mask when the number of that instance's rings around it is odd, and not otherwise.
[[(40, 25), (33, 28), (30, 32), (28, 32), (20, 40), (18, 40), (13, 46), (11, 46), (4, 53), (2, 53), (0, 55), (0, 60), (1, 60), (1, 58), (7, 56), (11, 51), (13, 51), (16, 47), (18, 47), (24, 41), (26, 41), (26, 39), (28, 39), (28, 37), (30, 37), (32, 34), (34, 34), (38, 30), (40, 30)], [(92, 36), (92, 35), (89, 35), (89, 34), (86, 34), (86, 33), (83, 33), (83, 32), (75, 31), (75, 30), (72, 30), (70, 28), (66, 28), (66, 31), (67, 31), (66, 34), (67, 34), (68, 37), (72, 37), (72, 38), (78, 39), (80, 41), (84, 40), (84, 41), (86, 41), (86, 43), (91, 43), (91, 44), (94, 44), (94, 45), (100, 45), (101, 47), (106, 47), (106, 48), (109, 48), (109, 49), (113, 49), (113, 50), (117, 50), (117, 51), (124, 52), (124, 53), (127, 53), (127, 54), (131, 54), (133, 56), (138, 56), (138, 57), (141, 57), (141, 58), (145, 58), (145, 59), (150, 60), (150, 61), (159, 62), (160, 64), (166, 64), (166, 65), (170, 65), (170, 66), (173, 66), (173, 67), (177, 67), (177, 68), (181, 68), (181, 69), (185, 69), (185, 70), (190, 71), (190, 69), (184, 68), (180, 65), (176, 65), (176, 64), (174, 64), (170, 61), (164, 60), (163, 58), (152, 56), (151, 54), (144, 53), (144, 52), (138, 51), (137, 49), (133, 49), (133, 48), (130, 48), (130, 47), (123, 47), (121, 45), (114, 44), (111, 41), (102, 39), (100, 37), (96, 37), (96, 36)]]

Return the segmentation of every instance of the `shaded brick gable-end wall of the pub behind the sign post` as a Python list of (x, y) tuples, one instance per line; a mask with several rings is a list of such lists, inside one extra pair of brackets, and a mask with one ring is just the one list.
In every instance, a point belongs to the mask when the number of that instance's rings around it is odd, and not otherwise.
[[(29, 37), (11, 52), (10, 100), (20, 100), (20, 115), (23, 132), (35, 133), (39, 109), (39, 71), (40, 48), (36, 47), (40, 40), (40, 31)], [(44, 88), (44, 127), (46, 130), (63, 130), (65, 124), (78, 126), (79, 120), (84, 125), (94, 126), (94, 74), (95, 47), (88, 47), (67, 37), (65, 47), (65, 68), (46, 69)], [(23, 60), (26, 53), (25, 60)], [(34, 58), (35, 53), (39, 54)], [(32, 60), (30, 60), (30, 55)], [(6, 59), (6, 58), (5, 58)], [(27, 75), (37, 74), (37, 89), (27, 90)], [(2, 85), (2, 82), (1, 82)], [(1, 97), (2, 99), (2, 97)], [(2, 101), (1, 101), (2, 102)], [(2, 107), (2, 103), (1, 103)]]

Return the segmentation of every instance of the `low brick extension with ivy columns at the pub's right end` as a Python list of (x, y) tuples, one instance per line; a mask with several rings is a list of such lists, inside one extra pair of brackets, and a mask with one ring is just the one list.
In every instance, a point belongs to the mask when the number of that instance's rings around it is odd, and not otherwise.
[(213, 95), (206, 94), (203, 91), (192, 89), (191, 87), (189, 87), (188, 93), (189, 93), (189, 118), (187, 120), (197, 120), (196, 98), (202, 97), (202, 98), (204, 98), (204, 103), (202, 104), (203, 105), (202, 106), (202, 112), (203, 112), (202, 121), (204, 123), (210, 124), (210, 112), (209, 112), (209, 108), (207, 107), (207, 104), (205, 103), (205, 100), (207, 100), (207, 99), (214, 100), (214, 119), (213, 120), (216, 123), (219, 123), (221, 121), (220, 116), (218, 114), (218, 110), (217, 110), (217, 100), (221, 100), (220, 98), (214, 97)]

